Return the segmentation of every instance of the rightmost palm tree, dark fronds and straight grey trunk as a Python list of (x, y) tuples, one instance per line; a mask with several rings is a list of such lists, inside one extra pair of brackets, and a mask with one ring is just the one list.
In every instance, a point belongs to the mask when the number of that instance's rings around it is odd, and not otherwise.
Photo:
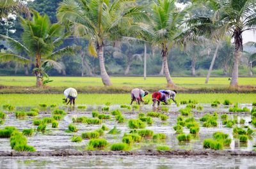
[[(218, 30), (220, 34), (223, 34), (225, 36), (231, 36), (232, 38), (234, 38), (234, 66), (232, 70), (232, 79), (230, 85), (237, 86), (239, 57), (241, 56), (241, 51), (243, 51), (242, 33), (248, 30), (256, 30), (255, 1), (200, 0), (200, 2), (209, 3), (212, 6), (212, 9), (216, 11), (213, 19), (214, 22), (212, 22), (212, 26), (214, 26), (214, 29)], [(198, 23), (202, 20), (211, 20), (211, 18), (206, 17), (198, 17), (197, 19)], [(211, 24), (208, 24), (206, 27), (211, 27)], [(201, 28), (202, 29), (200, 29), (200, 31), (205, 32), (205, 27)]]

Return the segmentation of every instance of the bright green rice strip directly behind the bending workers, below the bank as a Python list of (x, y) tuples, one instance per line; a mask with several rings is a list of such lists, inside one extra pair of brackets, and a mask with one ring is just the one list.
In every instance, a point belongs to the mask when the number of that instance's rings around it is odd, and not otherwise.
[[(205, 94), (177, 94), (177, 101), (195, 99), (198, 103), (212, 103), (218, 100), (223, 103), (225, 99), (232, 103), (253, 103), (256, 101), (255, 94), (237, 93), (205, 93)], [(47, 106), (52, 104), (64, 105), (62, 103), (63, 94), (1, 94), (1, 105), (10, 104), (15, 106), (38, 106), (45, 103)], [(150, 99), (151, 94), (145, 96), (144, 100)], [(111, 105), (129, 104), (130, 94), (78, 94), (76, 105), (104, 105), (109, 102)]]

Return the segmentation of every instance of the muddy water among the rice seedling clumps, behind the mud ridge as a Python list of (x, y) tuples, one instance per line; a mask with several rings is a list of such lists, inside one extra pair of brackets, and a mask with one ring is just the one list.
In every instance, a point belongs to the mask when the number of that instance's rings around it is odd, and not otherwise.
[[(201, 105), (204, 107), (204, 110), (194, 113), (196, 121), (199, 121), (199, 118), (202, 117), (206, 112), (220, 112), (220, 114), (228, 112), (227, 107), (212, 108), (211, 105), (209, 104), (201, 104)], [(250, 105), (241, 105), (241, 106), (252, 108), (250, 107)], [(109, 112), (119, 107), (120, 107), (119, 105), (111, 106)], [(182, 108), (182, 107), (184, 107), (184, 105), (182, 105), (179, 108)], [(216, 131), (222, 131), (224, 133), (228, 133), (228, 135), (230, 135), (230, 137), (232, 138), (232, 129), (223, 127), (219, 119), (217, 128), (200, 127), (200, 135), (198, 137), (193, 139), (190, 143), (180, 144), (176, 138), (175, 131), (173, 129), (173, 126), (177, 122), (176, 119), (177, 119), (177, 116), (179, 115), (179, 113), (177, 113), (177, 110), (179, 110), (179, 108), (177, 108), (175, 105), (171, 105), (169, 107), (168, 113), (165, 113), (165, 114), (168, 114), (170, 117), (168, 121), (162, 122), (159, 118), (153, 118), (154, 124), (152, 124), (152, 126), (147, 126), (147, 129), (152, 129), (154, 133), (165, 133), (167, 135), (167, 138), (164, 142), (153, 142), (152, 140), (145, 140), (141, 143), (134, 143), (134, 145), (132, 145), (132, 149), (156, 149), (158, 145), (168, 145), (171, 149), (174, 149), (174, 150), (175, 149), (200, 150), (200, 149), (204, 149), (202, 146), (202, 142), (204, 138), (211, 138), (212, 133)], [(26, 109), (29, 110), (29, 108), (26, 108)], [(80, 116), (92, 117), (92, 110), (101, 110), (101, 107), (90, 106), (87, 108), (86, 111), (77, 110), (77, 109), (71, 110), (68, 107), (64, 107), (64, 109), (67, 110), (68, 115), (65, 116), (65, 119), (59, 122), (59, 128), (57, 129), (51, 128), (51, 124), (49, 124), (47, 126), (47, 131), (44, 134), (35, 132), (35, 135), (28, 137), (28, 145), (33, 145), (37, 151), (53, 151), (53, 150), (60, 150), (60, 149), (84, 150), (86, 149), (86, 144), (88, 143), (88, 140), (83, 140), (81, 143), (74, 143), (70, 141), (70, 138), (73, 135), (81, 135), (81, 133), (83, 132), (99, 129), (102, 126), (102, 124), (105, 124), (109, 129), (116, 126), (118, 129), (121, 130), (120, 134), (108, 135), (107, 132), (105, 132), (105, 135), (104, 135), (104, 138), (106, 138), (109, 143), (114, 143), (114, 142), (122, 142), (122, 136), (124, 135), (124, 133), (129, 133), (130, 131), (127, 125), (127, 121), (124, 122), (124, 124), (118, 124), (115, 121), (115, 117), (112, 117), (110, 120), (104, 120), (100, 125), (88, 125), (88, 124), (77, 123), (76, 126), (79, 129), (77, 133), (66, 133), (65, 130), (68, 128), (68, 124), (72, 122), (72, 117), (80, 117)], [(132, 110), (132, 113), (131, 113), (131, 110), (127, 110), (124, 108), (120, 110), (122, 110), (123, 115), (125, 116), (126, 119), (136, 119), (138, 112), (152, 111), (152, 107), (150, 107), (149, 105), (145, 105), (144, 107), (141, 107), (141, 110)], [(238, 121), (241, 117), (243, 117), (243, 119), (246, 119), (246, 125), (249, 125), (248, 122), (251, 120), (250, 114), (239, 113), (236, 115), (238, 115)], [(232, 118), (232, 114), (229, 114), (229, 116), (230, 118)], [(40, 115), (38, 115), (38, 118), (40, 117), (51, 117), (51, 110), (41, 111)], [(15, 115), (10, 113), (8, 114), (8, 118), (6, 119), (4, 124), (1, 125), (1, 128), (3, 128), (4, 126), (15, 126), (20, 130), (24, 128), (36, 129), (36, 126), (33, 126), (32, 119), (33, 118), (31, 117), (28, 117), (27, 119), (16, 119)], [(189, 133), (189, 129), (184, 128), (184, 132)], [(252, 149), (254, 149), (253, 145), (255, 145), (255, 142), (256, 142), (256, 138), (251, 138), (247, 144), (241, 144), (239, 143), (239, 140), (232, 139), (232, 143), (230, 147), (226, 147), (225, 149), (252, 151)], [(10, 139), (1, 138), (0, 149), (1, 151), (12, 151), (10, 148)]]

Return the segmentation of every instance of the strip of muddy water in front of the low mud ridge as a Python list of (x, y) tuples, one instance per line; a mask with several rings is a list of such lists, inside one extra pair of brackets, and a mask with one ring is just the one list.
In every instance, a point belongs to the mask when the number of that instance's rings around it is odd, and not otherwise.
[(231, 156), (69, 156), (0, 160), (0, 168), (256, 168), (255, 157)]

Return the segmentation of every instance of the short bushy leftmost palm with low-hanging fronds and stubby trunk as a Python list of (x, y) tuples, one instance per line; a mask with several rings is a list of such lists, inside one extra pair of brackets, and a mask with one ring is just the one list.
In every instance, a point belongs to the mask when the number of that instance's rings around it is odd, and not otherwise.
[[(24, 29), (22, 43), (0, 35), (0, 38), (7, 40), (11, 47), (19, 52), (0, 53), (0, 60), (34, 62), (33, 73), (36, 76), (36, 87), (42, 87), (44, 77), (47, 78), (46, 71), (49, 68), (60, 69), (62, 66), (56, 60), (65, 54), (74, 55), (77, 47), (68, 46), (56, 50), (67, 34), (63, 33), (63, 26), (60, 24), (51, 24), (47, 15), (41, 16), (37, 11), (33, 11), (33, 18), (28, 20), (20, 17), (20, 24)], [(20, 51), (26, 52), (29, 59), (17, 54)]]

